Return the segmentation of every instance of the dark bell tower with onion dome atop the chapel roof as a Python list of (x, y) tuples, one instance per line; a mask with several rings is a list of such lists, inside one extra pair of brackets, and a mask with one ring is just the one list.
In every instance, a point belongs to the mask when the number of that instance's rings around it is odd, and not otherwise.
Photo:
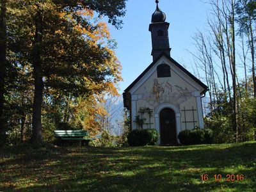
[(152, 14), (151, 24), (149, 25), (149, 31), (152, 38), (152, 52), (153, 61), (162, 53), (166, 53), (170, 56), (170, 44), (168, 28), (169, 23), (165, 22), (166, 15), (158, 7), (159, 1), (156, 0), (156, 11)]

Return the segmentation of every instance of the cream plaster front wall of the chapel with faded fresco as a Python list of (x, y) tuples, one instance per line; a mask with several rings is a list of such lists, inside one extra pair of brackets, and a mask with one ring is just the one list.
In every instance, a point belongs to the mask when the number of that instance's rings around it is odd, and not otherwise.
[[(199, 125), (197, 113), (198, 105), (196, 103), (196, 97), (194, 97), (194, 92), (198, 92), (198, 90), (192, 86), (191, 83), (188, 83), (187, 80), (184, 80), (180, 74), (172, 70), (172, 65), (171, 63), (171, 77), (157, 78), (157, 72), (155, 70), (152, 75), (148, 77), (147, 81), (141, 84), (138, 90), (133, 93), (133, 95), (138, 96), (138, 100), (136, 100), (137, 115), (147, 119), (145, 120), (143, 129), (156, 127), (154, 113), (157, 107), (163, 103), (173, 104), (179, 109), (181, 130), (193, 129), (194, 125)], [(184, 76), (186, 76), (186, 74), (184, 74)], [(158, 88), (159, 93), (156, 93), (156, 88)], [(153, 110), (153, 114), (150, 117), (151, 124), (149, 124), (147, 113), (139, 113), (139, 110), (143, 108)], [(184, 108), (186, 111), (186, 119)], [(137, 125), (137, 127), (140, 126)]]

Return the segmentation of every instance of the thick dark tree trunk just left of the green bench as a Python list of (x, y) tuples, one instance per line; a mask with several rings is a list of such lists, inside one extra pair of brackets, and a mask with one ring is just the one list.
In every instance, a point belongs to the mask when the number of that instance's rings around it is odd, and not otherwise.
[(32, 136), (31, 143), (38, 145), (42, 143), (42, 124), (41, 108), (43, 100), (43, 76), (42, 76), (42, 13), (38, 11), (35, 17), (35, 42), (33, 44), (33, 74), (35, 83), (35, 93), (33, 100), (33, 119), (32, 119)]

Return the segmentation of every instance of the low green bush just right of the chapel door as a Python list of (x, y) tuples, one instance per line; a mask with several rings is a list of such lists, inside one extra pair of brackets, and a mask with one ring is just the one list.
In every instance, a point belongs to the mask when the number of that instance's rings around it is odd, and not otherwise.
[(212, 143), (212, 130), (195, 127), (192, 130), (180, 131), (178, 136), (182, 145), (200, 145)]

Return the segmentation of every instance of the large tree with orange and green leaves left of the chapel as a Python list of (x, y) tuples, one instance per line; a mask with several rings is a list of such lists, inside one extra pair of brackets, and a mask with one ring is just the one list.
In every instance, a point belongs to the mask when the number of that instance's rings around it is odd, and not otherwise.
[(118, 17), (124, 16), (125, 1), (15, 2), (10, 31), (17, 47), (12, 51), (25, 58), (26, 62), (18, 65), (33, 69), (32, 143), (42, 142), (45, 89), (60, 90), (72, 97), (91, 97), (115, 89), (122, 79), (108, 27), (93, 13), (108, 17), (120, 28), (122, 21)]

